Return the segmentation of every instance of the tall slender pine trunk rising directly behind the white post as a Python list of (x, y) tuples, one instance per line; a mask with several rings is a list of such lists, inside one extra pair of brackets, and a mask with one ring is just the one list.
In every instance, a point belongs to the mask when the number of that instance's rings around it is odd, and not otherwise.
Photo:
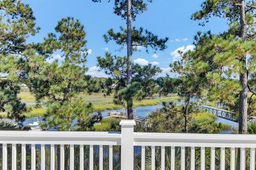
[[(132, 84), (132, 13), (131, 0), (127, 0), (127, 86)], [(132, 98), (127, 99), (127, 118), (133, 120)]]

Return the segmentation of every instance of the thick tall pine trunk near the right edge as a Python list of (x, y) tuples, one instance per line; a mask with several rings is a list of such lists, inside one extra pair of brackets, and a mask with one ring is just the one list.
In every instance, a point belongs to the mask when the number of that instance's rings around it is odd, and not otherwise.
[[(245, 20), (245, 2), (241, 1), (240, 6), (240, 27), (241, 33), (240, 38), (246, 41), (246, 20)], [(247, 133), (247, 69), (246, 69), (246, 56), (242, 56), (241, 62), (243, 63), (243, 70), (240, 71), (239, 82), (241, 84), (242, 90), (239, 92), (239, 134)], [(241, 149), (238, 148), (237, 155), (237, 169), (240, 169), (240, 155)]]

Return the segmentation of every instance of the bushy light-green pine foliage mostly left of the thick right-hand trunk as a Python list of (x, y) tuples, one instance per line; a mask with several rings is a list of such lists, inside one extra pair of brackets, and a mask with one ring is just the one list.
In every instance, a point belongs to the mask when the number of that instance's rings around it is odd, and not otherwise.
[[(255, 72), (255, 48), (253, 48), (255, 40), (244, 41), (237, 38), (232, 33), (233, 30), (236, 28), (234, 29), (234, 25), (231, 25), (228, 32), (219, 35), (212, 35), (211, 32), (203, 34), (198, 32), (195, 36), (195, 50), (183, 55), (181, 60), (188, 64), (181, 63), (178, 67), (182, 71), (191, 70), (192, 73), (196, 73), (196, 79), (203, 78), (203, 81), (194, 82), (197, 85), (202, 84), (201, 88), (197, 88), (197, 91), (203, 90), (202, 97), (210, 101), (219, 100), (230, 105), (237, 103), (237, 98), (242, 90), (237, 76), (243, 72), (243, 62), (241, 62), (243, 56), (250, 61), (246, 65), (249, 77)], [(185, 75), (190, 74), (187, 72)], [(189, 80), (189, 82), (193, 82), (193, 80)], [(237, 167), (239, 167), (239, 154), (238, 149)]]

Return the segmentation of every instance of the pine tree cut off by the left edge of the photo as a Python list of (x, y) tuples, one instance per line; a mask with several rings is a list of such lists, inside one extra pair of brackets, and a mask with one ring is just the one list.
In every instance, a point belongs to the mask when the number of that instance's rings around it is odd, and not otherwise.
[(23, 52), (31, 47), (26, 40), (39, 31), (35, 20), (29, 5), (19, 0), (0, 2), (0, 112), (16, 121), (24, 120), (27, 111), (17, 95), (23, 83)]

